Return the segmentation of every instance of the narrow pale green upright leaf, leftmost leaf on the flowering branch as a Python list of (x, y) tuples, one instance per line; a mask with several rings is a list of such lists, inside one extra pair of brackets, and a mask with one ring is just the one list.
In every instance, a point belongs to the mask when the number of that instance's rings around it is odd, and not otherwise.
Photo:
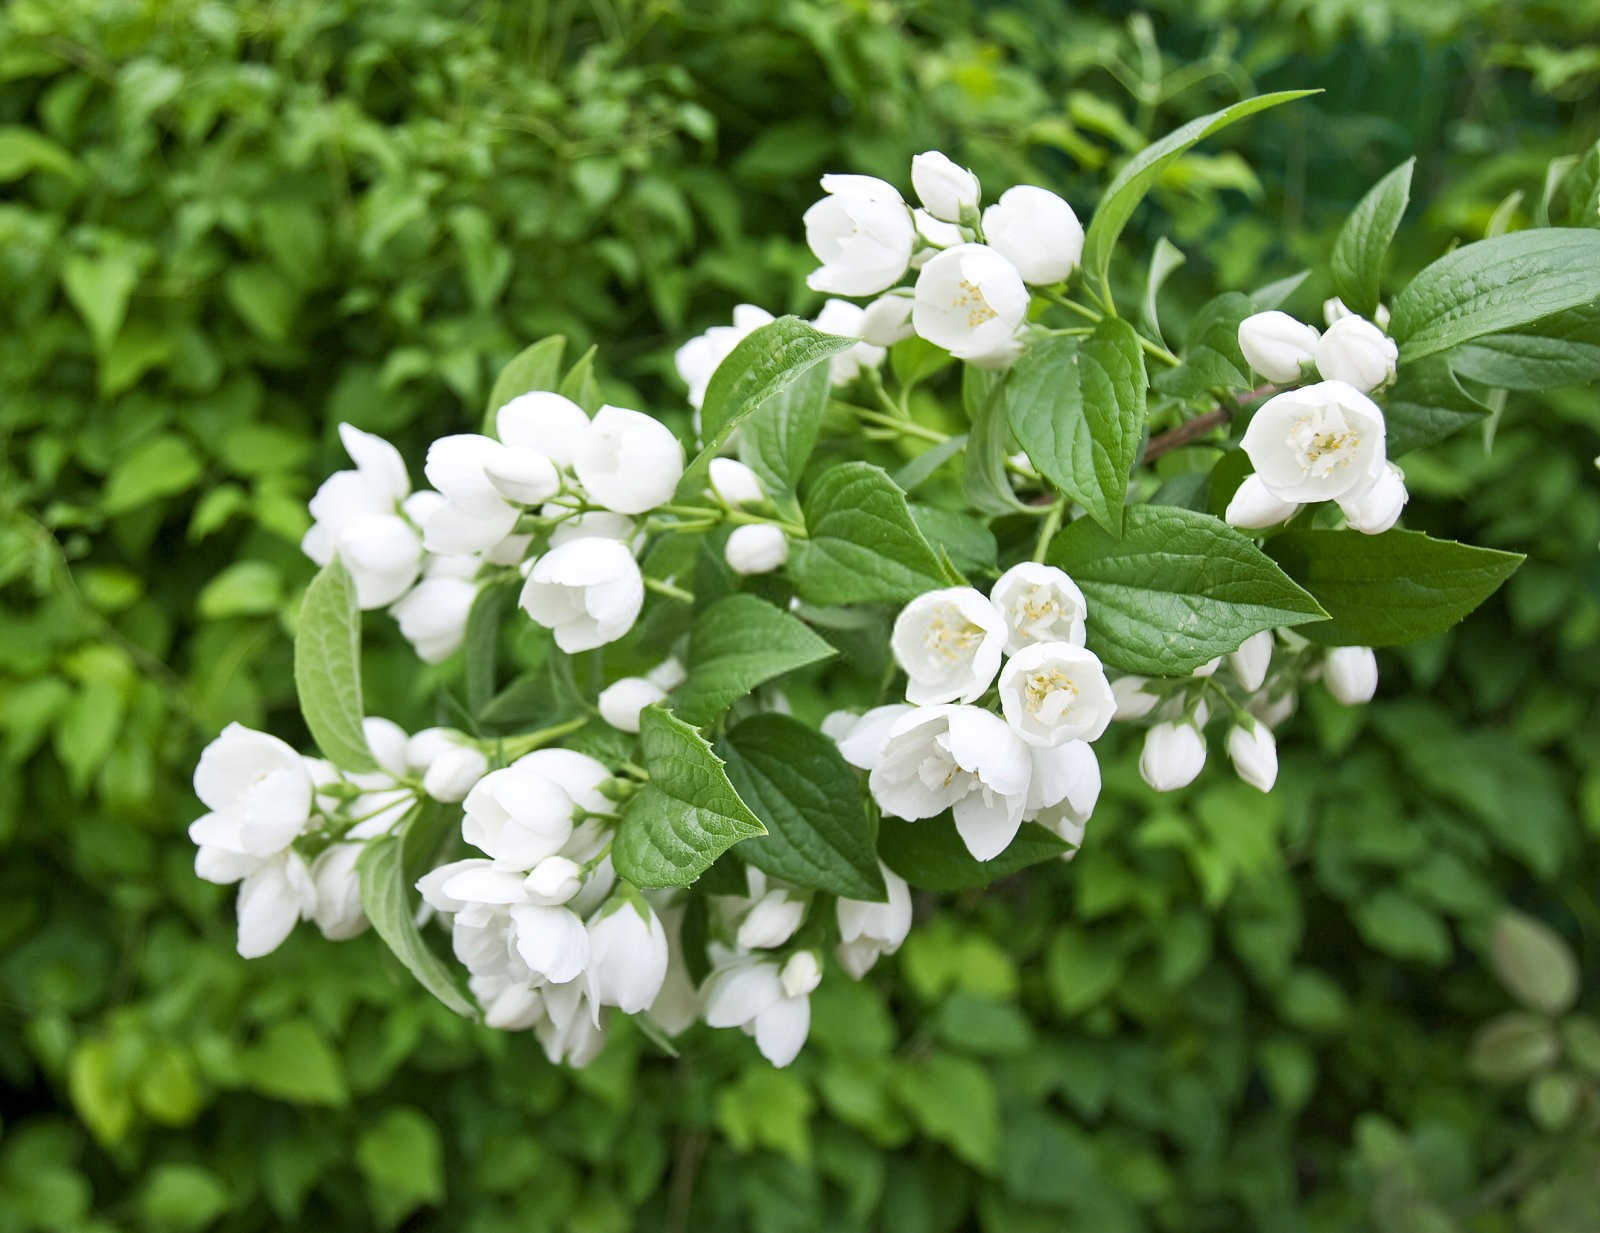
[(334, 557), (306, 587), (294, 627), (294, 691), (312, 739), (341, 771), (376, 771), (362, 732), (362, 613)]

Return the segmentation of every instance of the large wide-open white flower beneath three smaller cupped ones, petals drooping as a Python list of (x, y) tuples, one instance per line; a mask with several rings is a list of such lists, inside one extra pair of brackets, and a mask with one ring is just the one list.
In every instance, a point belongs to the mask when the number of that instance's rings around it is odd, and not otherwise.
[(918, 707), (890, 729), (867, 787), (878, 808), (917, 820), (946, 809), (978, 860), (1005, 851), (1022, 825), (1027, 745), (979, 707)]

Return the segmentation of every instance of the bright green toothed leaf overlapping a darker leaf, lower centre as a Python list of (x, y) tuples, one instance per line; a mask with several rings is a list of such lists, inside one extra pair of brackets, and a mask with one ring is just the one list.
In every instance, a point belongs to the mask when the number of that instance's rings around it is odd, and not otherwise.
[(635, 886), (688, 886), (739, 840), (766, 833), (690, 724), (648, 707), (638, 734), (650, 782), (622, 809), (611, 844), (618, 876)]

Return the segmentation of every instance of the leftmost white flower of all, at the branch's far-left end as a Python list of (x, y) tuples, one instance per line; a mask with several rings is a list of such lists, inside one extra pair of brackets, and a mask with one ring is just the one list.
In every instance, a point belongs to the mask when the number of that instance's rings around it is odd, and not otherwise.
[(310, 824), (306, 763), (275, 736), (243, 724), (230, 723), (200, 753), (195, 795), (211, 811), (189, 825), (200, 849), (195, 873), (224, 886), (253, 875)]

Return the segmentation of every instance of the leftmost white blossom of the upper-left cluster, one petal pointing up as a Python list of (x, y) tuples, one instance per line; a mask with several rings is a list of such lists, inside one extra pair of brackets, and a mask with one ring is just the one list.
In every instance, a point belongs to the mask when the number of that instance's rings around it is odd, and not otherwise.
[(339, 425), (355, 470), (330, 475), (310, 499), (312, 526), (301, 550), (317, 565), (339, 557), (362, 608), (382, 608), (416, 581), (422, 541), (400, 505), (411, 491), (400, 451), (382, 437)]

